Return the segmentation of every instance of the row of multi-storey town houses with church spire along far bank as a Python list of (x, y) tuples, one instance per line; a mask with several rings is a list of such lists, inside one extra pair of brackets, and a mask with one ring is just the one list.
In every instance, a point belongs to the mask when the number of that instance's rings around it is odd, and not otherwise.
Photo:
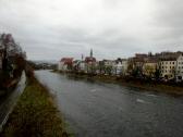
[(183, 80), (183, 52), (136, 53), (129, 59), (97, 61), (90, 55), (82, 60), (62, 58), (58, 65), (59, 71), (83, 72), (105, 75), (132, 75), (135, 77), (161, 78), (164, 80)]

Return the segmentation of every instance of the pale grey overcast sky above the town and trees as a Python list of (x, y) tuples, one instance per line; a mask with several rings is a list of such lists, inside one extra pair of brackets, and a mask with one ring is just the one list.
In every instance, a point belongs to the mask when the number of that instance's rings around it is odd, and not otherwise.
[(0, 0), (0, 33), (30, 60), (183, 51), (182, 0)]

